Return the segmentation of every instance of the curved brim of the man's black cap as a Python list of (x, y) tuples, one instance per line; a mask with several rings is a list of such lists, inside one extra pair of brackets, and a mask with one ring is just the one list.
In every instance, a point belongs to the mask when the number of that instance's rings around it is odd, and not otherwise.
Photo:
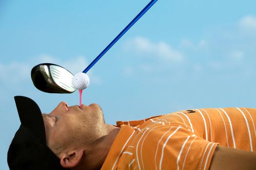
[(42, 113), (36, 102), (24, 96), (14, 97), (20, 117), (20, 123), (31, 129), (46, 144)]

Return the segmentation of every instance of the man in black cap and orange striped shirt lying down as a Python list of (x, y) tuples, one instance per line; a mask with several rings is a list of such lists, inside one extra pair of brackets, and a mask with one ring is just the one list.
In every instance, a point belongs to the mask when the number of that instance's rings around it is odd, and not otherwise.
[(256, 169), (256, 109), (184, 110), (112, 126), (97, 104), (60, 102), (42, 115), (29, 98), (15, 102), (21, 125), (10, 170)]

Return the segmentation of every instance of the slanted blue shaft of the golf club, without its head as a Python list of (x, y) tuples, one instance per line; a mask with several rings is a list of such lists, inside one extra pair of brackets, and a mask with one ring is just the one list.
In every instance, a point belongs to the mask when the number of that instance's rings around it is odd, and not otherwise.
[(154, 5), (156, 1), (157, 0), (151, 0), (147, 6), (142, 9), (142, 11), (140, 11), (140, 13), (123, 29), (123, 31), (121, 31), (121, 33), (119, 33), (118, 36), (102, 52), (100, 52), (100, 54), (98, 54), (92, 63), (83, 70), (83, 73), (86, 73), (89, 69), (91, 69), (98, 62), (98, 60), (118, 41), (118, 39), (120, 39), (121, 36), (125, 34), (138, 21), (138, 19), (149, 10), (151, 6)]

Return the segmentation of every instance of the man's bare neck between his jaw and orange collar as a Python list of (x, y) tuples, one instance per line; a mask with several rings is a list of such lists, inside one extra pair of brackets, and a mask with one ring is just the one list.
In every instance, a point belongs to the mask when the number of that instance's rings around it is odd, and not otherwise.
[(120, 128), (118, 127), (106, 125), (106, 135), (94, 141), (85, 154), (84, 158), (86, 160), (83, 165), (86, 165), (86, 170), (98, 170), (101, 168), (119, 130)]

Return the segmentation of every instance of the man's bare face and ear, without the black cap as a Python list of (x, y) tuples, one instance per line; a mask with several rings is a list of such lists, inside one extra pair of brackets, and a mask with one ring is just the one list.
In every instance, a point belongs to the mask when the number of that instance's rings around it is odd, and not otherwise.
[(87, 148), (106, 135), (106, 124), (98, 104), (59, 105), (43, 114), (48, 147), (59, 157), (62, 167), (76, 166)]

